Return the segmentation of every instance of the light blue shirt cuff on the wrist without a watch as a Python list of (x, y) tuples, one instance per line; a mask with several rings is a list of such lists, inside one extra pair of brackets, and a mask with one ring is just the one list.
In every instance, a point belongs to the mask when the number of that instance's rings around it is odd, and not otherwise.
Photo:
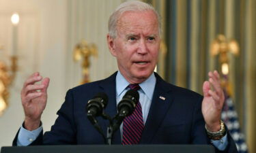
[(42, 131), (42, 125), (34, 131), (28, 131), (23, 126), (20, 127), (18, 133), (17, 146), (29, 146)]

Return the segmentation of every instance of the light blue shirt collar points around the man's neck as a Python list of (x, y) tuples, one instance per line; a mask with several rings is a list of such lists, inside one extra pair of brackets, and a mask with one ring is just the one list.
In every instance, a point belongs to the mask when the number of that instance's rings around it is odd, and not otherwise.
[[(117, 96), (119, 97), (130, 83), (124, 78), (124, 76), (120, 73), (120, 71), (117, 72), (115, 82), (116, 82)], [(139, 86), (141, 86), (142, 92), (144, 92), (145, 95), (150, 100), (152, 100), (155, 85), (156, 85), (156, 76), (154, 75), (154, 73), (152, 73), (150, 77), (147, 78), (147, 80), (139, 84)]]

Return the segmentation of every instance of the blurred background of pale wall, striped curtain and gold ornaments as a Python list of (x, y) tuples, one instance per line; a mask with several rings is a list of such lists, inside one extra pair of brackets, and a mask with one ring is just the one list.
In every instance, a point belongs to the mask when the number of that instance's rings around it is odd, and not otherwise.
[[(240, 152), (256, 152), (256, 0), (144, 1), (162, 17), (156, 71), (199, 93), (208, 71), (220, 71), (222, 118)], [(31, 73), (51, 79), (42, 116), (48, 131), (69, 88), (117, 71), (106, 33), (122, 2), (0, 0), (0, 147), (12, 145), (23, 122), (20, 90)]]

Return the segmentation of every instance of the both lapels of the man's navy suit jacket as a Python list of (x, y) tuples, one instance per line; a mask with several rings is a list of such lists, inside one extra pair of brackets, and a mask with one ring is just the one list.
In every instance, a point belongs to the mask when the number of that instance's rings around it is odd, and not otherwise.
[[(109, 103), (104, 110), (106, 114), (109, 114), (113, 118), (117, 114), (117, 103), (116, 103), (116, 90), (115, 90), (115, 78), (117, 72), (111, 75), (109, 78), (102, 80), (100, 83), (100, 88), (104, 90), (106, 95), (109, 97)], [(140, 143), (150, 143), (156, 134), (158, 127), (160, 126), (162, 120), (171, 106), (173, 97), (171, 97), (171, 86), (167, 84), (160, 76), (156, 75), (156, 87), (154, 89), (154, 95), (152, 99), (152, 104), (150, 106), (150, 112), (147, 116), (147, 122), (142, 133)], [(103, 131), (106, 133), (106, 128), (109, 126), (109, 121), (104, 120)], [(121, 144), (120, 130), (118, 129), (113, 135), (113, 144)]]

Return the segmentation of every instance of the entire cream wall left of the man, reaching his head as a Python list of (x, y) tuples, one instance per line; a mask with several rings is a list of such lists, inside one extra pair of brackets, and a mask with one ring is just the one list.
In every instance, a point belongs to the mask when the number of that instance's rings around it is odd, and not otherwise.
[[(20, 90), (34, 71), (51, 78), (48, 103), (42, 116), (44, 131), (57, 118), (66, 90), (81, 80), (80, 63), (72, 61), (72, 48), (82, 38), (98, 46), (98, 58), (91, 58), (91, 80), (106, 78), (117, 70), (115, 58), (106, 46), (107, 20), (122, 0), (1, 0), (0, 60), (12, 50), (12, 12), (20, 14), (18, 25), (17, 77), (10, 87), (10, 106), (0, 117), (0, 147), (11, 146), (23, 122)], [(4, 54), (1, 54), (4, 52)], [(3, 56), (4, 55), (4, 56)]]

